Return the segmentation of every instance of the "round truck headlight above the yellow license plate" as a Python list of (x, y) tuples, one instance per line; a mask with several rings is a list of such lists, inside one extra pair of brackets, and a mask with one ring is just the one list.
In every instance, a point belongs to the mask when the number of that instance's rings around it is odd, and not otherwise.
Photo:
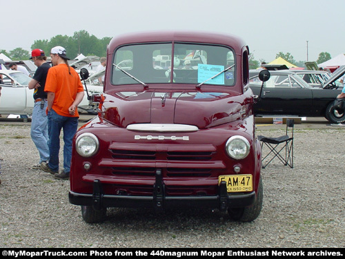
[(244, 159), (249, 153), (250, 144), (246, 137), (233, 136), (225, 145), (226, 153), (235, 160)]

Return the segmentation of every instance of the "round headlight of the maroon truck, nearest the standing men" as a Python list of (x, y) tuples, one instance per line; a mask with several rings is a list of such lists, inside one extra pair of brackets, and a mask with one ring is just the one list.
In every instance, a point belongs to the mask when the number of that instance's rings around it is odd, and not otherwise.
[(77, 152), (82, 157), (90, 157), (97, 153), (99, 148), (99, 141), (92, 133), (83, 133), (77, 137), (75, 142)]

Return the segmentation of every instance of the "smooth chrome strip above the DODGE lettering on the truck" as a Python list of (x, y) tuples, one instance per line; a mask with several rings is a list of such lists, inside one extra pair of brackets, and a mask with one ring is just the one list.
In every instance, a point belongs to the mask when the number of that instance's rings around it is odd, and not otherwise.
[(197, 126), (187, 124), (130, 124), (129, 131), (141, 132), (191, 132), (199, 131)]

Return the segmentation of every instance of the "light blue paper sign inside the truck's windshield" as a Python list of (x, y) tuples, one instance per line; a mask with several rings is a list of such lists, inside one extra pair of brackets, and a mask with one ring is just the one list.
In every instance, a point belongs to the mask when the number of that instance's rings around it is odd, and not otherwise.
[[(198, 83), (202, 83), (224, 70), (224, 66), (205, 64), (198, 64), (197, 66)], [(208, 80), (206, 84), (224, 84), (224, 73), (221, 73), (220, 75), (217, 75), (217, 77)]]

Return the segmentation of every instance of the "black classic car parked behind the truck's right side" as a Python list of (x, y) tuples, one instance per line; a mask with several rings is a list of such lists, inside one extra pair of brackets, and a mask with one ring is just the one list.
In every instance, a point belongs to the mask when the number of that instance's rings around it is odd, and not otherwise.
[[(270, 71), (264, 83), (260, 101), (254, 105), (255, 115), (326, 117), (331, 123), (345, 122), (345, 113), (334, 108), (334, 101), (342, 92), (334, 81), (345, 73), (345, 68), (328, 79), (322, 87), (312, 87), (290, 70)], [(250, 88), (260, 95), (261, 81), (251, 71)], [(257, 72), (255, 72), (257, 73)]]

